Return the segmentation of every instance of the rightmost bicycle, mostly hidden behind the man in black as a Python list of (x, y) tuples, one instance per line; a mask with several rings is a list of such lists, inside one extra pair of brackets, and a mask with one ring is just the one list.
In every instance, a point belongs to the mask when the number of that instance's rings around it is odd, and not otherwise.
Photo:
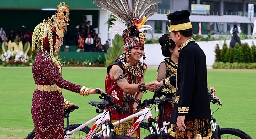
[[(215, 97), (216, 90), (211, 87), (211, 92), (209, 92), (210, 102), (213, 104), (219, 103), (219, 99)], [(157, 100), (156, 100), (157, 101)], [(170, 122), (166, 123), (165, 121), (165, 114), (164, 114), (164, 103), (167, 103), (170, 100), (163, 99), (160, 101), (158, 105), (158, 109), (161, 109), (162, 112), (162, 119), (163, 119), (163, 127), (160, 128), (160, 131), (163, 133), (167, 133), (167, 126)], [(157, 103), (157, 102), (155, 102)], [(219, 108), (218, 108), (219, 109)], [(212, 112), (211, 112), (212, 113)], [(213, 118), (213, 113), (211, 114), (211, 125), (212, 125), (212, 139), (252, 139), (250, 135), (246, 134), (245, 132), (234, 129), (234, 128), (220, 128), (220, 126), (216, 123), (216, 119)], [(155, 135), (149, 135), (144, 139), (155, 139)], [(163, 139), (170, 139), (170, 138), (163, 138)]]

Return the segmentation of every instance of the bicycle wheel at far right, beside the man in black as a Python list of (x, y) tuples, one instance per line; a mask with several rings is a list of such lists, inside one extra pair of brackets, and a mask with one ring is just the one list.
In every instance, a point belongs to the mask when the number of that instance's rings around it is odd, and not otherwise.
[[(214, 139), (214, 138), (213, 138)], [(249, 134), (234, 128), (219, 129), (219, 139), (252, 139)]]

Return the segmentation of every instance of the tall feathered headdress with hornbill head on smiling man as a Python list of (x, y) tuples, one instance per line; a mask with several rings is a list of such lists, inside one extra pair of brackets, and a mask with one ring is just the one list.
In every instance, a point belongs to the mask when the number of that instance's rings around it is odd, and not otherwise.
[(144, 30), (152, 30), (144, 25), (147, 19), (158, 11), (157, 3), (161, 0), (94, 0), (94, 4), (117, 17), (112, 21), (109, 32), (122, 33), (124, 48), (140, 46), (144, 48), (146, 35)]

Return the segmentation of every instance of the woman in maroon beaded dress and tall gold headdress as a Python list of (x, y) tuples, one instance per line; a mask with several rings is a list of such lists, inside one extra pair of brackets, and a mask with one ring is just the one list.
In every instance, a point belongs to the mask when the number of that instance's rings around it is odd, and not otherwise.
[(62, 78), (58, 53), (68, 21), (69, 8), (65, 3), (60, 3), (58, 12), (51, 19), (38, 24), (32, 36), (32, 48), (37, 45), (40, 49), (32, 69), (36, 89), (31, 113), (36, 139), (64, 139), (64, 108), (74, 104), (64, 99), (62, 88), (84, 96), (94, 94), (98, 89), (73, 84)]

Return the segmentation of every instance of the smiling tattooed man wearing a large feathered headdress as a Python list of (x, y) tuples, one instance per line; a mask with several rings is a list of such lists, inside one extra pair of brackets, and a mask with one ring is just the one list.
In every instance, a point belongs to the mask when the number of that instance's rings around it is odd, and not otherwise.
[[(144, 74), (147, 65), (140, 61), (143, 57), (145, 61), (144, 44), (146, 35), (144, 30), (152, 29), (149, 25), (144, 25), (146, 19), (151, 17), (157, 10), (160, 0), (94, 0), (94, 4), (111, 12), (117, 17), (113, 21), (110, 33), (122, 34), (124, 41), (124, 53), (120, 55), (113, 65), (107, 67), (107, 76), (105, 80), (105, 91), (108, 94), (116, 92), (120, 100), (115, 100), (117, 104), (123, 107), (124, 113), (118, 114), (112, 110), (112, 122), (123, 119), (137, 110), (141, 103), (143, 92), (146, 90), (154, 91), (159, 88), (155, 81), (144, 82)], [(133, 124), (134, 119), (117, 125), (114, 131), (117, 134), (126, 135)], [(140, 138), (139, 129), (133, 134), (133, 137)]]

